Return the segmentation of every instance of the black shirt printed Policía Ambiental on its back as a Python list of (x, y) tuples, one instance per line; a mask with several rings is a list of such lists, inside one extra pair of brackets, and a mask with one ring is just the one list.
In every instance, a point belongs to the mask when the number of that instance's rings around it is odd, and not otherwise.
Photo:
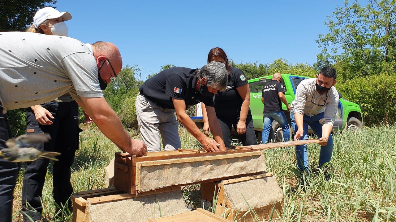
[(261, 97), (264, 98), (264, 113), (282, 111), (282, 101), (278, 92), (285, 94), (285, 87), (276, 80), (271, 80), (264, 86), (261, 94)]

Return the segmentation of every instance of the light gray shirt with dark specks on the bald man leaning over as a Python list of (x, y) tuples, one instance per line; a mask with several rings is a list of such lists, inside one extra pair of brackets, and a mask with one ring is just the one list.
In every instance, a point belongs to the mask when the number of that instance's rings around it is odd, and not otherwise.
[(73, 38), (0, 32), (0, 101), (4, 111), (52, 101), (69, 92), (103, 97), (93, 50)]

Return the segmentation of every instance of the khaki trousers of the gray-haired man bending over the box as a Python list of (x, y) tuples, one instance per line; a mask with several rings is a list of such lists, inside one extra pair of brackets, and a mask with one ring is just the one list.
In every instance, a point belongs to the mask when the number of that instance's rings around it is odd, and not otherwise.
[(139, 94), (135, 102), (139, 133), (147, 152), (161, 151), (160, 134), (165, 151), (181, 148), (174, 109), (162, 108)]

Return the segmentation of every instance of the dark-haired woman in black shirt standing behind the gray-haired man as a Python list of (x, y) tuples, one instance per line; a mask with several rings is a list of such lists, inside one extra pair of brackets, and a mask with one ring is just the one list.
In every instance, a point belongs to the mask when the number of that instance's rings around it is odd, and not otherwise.
[[(215, 95), (215, 111), (221, 126), (221, 131), (223, 132), (225, 146), (230, 147), (231, 145), (232, 126), (234, 126), (244, 146), (257, 144), (253, 119), (249, 109), (250, 90), (243, 71), (234, 66), (230, 66), (226, 53), (219, 47), (215, 47), (209, 51), (208, 63), (211, 61), (224, 63), (227, 68), (227, 73), (229, 74), (227, 90)], [(204, 107), (205, 106), (202, 105), (204, 132), (208, 135), (209, 121), (208, 118), (206, 118), (207, 115)]]

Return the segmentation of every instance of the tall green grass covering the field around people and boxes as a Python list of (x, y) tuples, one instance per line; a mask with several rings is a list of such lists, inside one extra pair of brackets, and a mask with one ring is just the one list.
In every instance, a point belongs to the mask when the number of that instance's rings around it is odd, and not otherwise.
[[(181, 128), (179, 133), (183, 148), (200, 147), (186, 130)], [(296, 186), (292, 147), (265, 151), (267, 171), (276, 175), (284, 192), (284, 213), (272, 221), (396, 221), (396, 126), (364, 128), (356, 133), (338, 133), (333, 138), (333, 176), (325, 181), (322, 172), (311, 175), (310, 186), (305, 189)], [(319, 150), (319, 145), (308, 145), (311, 169), (318, 164)], [(72, 166), (74, 191), (105, 188), (105, 167), (116, 151), (118, 148), (95, 126), (85, 126)], [(43, 214), (47, 221), (61, 221), (54, 218), (51, 165), (49, 169)], [(24, 168), (15, 188), (15, 221), (22, 218), (19, 209), (23, 172)], [(199, 185), (185, 186), (183, 196), (190, 207), (200, 207)], [(70, 220), (70, 215), (65, 218)]]

